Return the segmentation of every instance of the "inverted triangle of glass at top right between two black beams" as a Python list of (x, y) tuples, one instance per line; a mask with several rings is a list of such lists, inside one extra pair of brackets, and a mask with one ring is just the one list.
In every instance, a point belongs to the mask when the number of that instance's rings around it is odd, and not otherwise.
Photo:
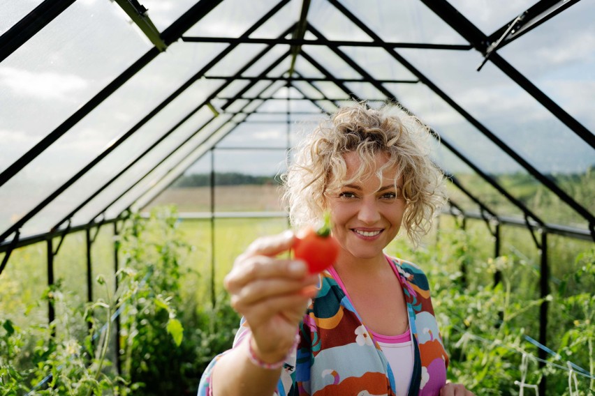
[(448, 0), (457, 11), (488, 36), (531, 8), (536, 0), (467, 1)]

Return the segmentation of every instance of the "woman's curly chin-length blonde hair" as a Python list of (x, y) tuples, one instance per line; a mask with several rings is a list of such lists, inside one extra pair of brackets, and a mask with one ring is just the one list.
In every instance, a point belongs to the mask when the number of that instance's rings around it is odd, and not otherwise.
[[(376, 174), (381, 179), (384, 169), (395, 167), (395, 183), (402, 176), (402, 226), (413, 245), (418, 245), (446, 201), (443, 174), (429, 158), (426, 140), (430, 136), (427, 126), (398, 105), (372, 109), (357, 102), (340, 107), (293, 148), (293, 163), (281, 176), (291, 224), (302, 227), (318, 222), (326, 208), (325, 193), (369, 175), (376, 155), (384, 153), (388, 161)], [(344, 154), (350, 152), (358, 153), (361, 165), (346, 180)]]

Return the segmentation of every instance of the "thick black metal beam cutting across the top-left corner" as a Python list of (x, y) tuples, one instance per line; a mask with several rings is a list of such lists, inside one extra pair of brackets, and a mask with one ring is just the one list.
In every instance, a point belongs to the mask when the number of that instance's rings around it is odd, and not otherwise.
[(0, 62), (27, 43), (75, 0), (45, 0), (0, 36)]

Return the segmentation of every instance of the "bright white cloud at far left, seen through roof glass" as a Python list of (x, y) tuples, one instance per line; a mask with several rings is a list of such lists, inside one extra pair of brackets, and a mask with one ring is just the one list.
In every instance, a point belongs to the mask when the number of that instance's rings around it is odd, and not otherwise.
[(88, 84), (85, 79), (72, 74), (33, 73), (17, 68), (0, 69), (0, 86), (7, 86), (17, 96), (70, 101), (72, 93), (82, 91)]

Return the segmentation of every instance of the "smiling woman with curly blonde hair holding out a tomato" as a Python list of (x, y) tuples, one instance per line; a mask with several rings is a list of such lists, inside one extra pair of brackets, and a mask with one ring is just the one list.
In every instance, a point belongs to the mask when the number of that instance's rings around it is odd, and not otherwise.
[(360, 103), (302, 141), (284, 176), (291, 222), (315, 224), (330, 211), (339, 257), (309, 275), (279, 257), (291, 232), (252, 243), (225, 280), (242, 326), (199, 395), (473, 395), (446, 383), (424, 273), (383, 252), (402, 226), (417, 244), (443, 203), (427, 132), (397, 107)]

